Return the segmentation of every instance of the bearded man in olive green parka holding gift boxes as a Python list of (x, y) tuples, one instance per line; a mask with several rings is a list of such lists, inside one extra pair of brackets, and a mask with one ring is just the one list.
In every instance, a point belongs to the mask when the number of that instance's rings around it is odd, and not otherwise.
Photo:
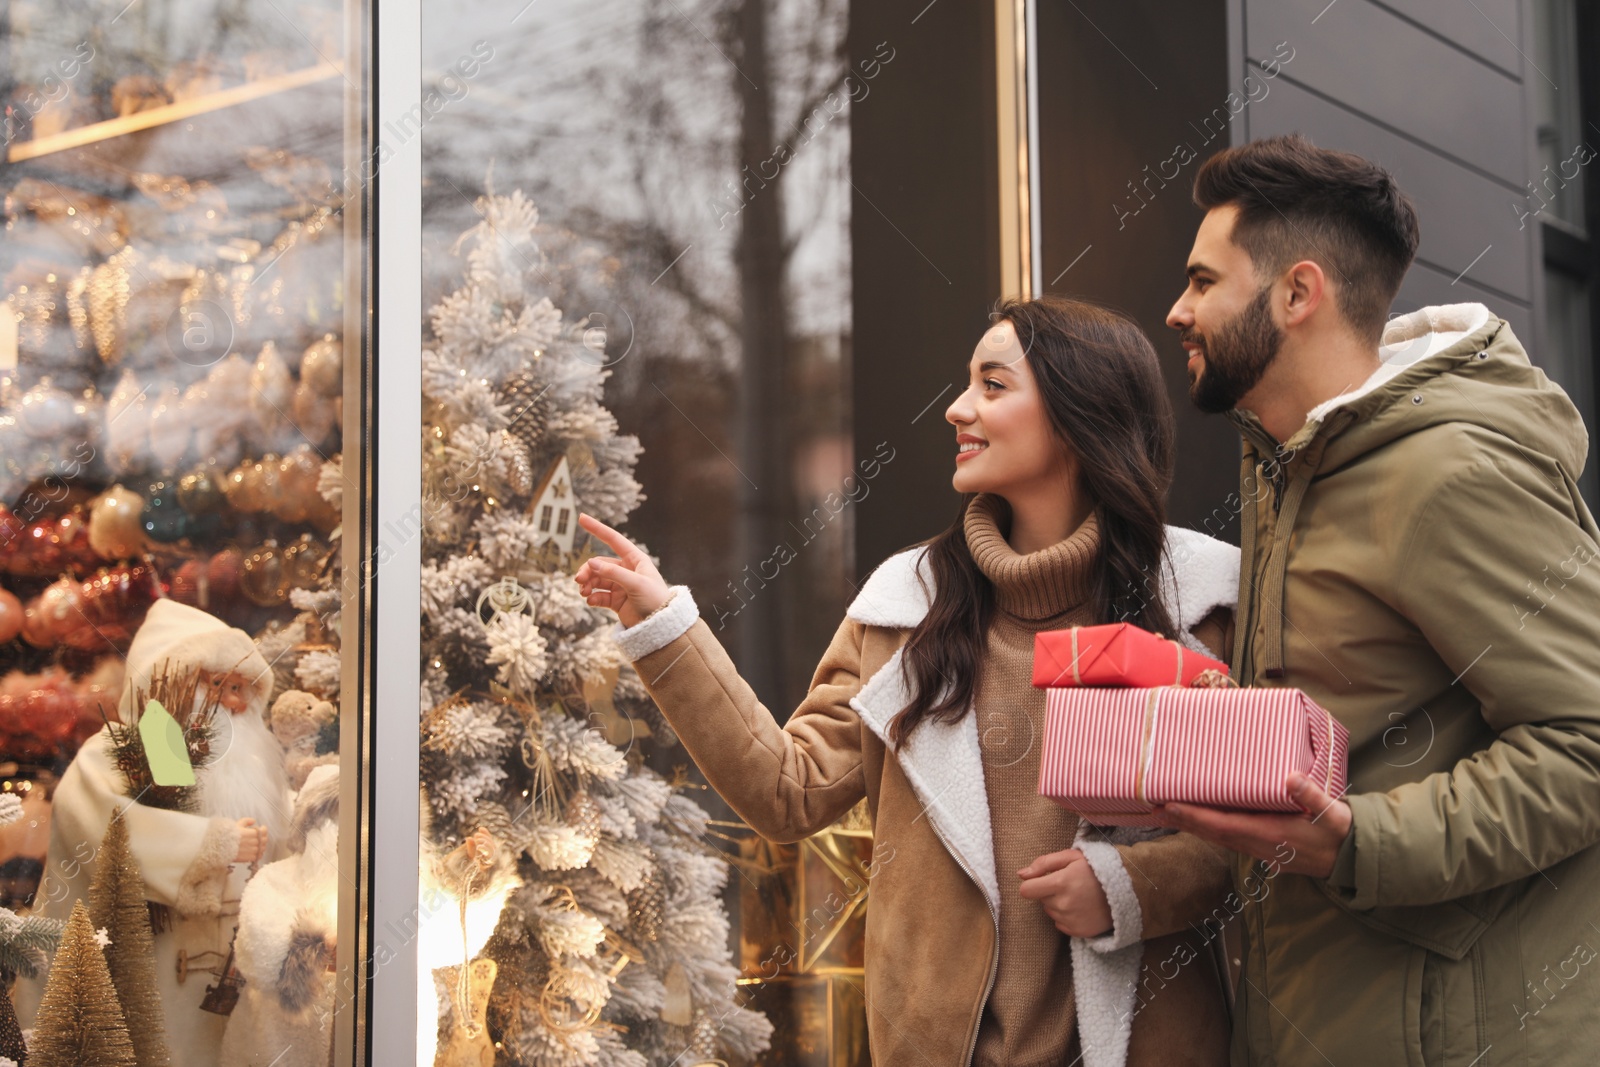
[(1234, 675), (1350, 729), (1347, 795), (1296, 776), (1302, 817), (1165, 809), (1242, 854), (1234, 1062), (1592, 1064), (1582, 421), (1482, 306), (1386, 323), (1418, 222), (1373, 163), (1258, 141), (1210, 160), (1195, 202), (1166, 322), (1192, 400), (1245, 440)]

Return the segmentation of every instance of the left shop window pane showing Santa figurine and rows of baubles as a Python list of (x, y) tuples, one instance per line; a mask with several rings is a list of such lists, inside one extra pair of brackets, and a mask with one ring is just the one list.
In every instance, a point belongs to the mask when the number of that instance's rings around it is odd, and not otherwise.
[(362, 16), (0, 8), (6, 1061), (330, 1062)]

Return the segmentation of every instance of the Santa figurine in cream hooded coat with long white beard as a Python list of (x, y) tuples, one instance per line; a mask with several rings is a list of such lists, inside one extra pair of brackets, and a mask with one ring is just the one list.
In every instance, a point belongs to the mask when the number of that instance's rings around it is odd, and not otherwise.
[[(192, 811), (138, 803), (112, 758), (102, 728), (90, 737), (56, 785), (50, 857), (35, 896), (43, 915), (66, 918), (88, 901), (94, 853), (112, 813), (123, 813), (128, 843), (146, 894), (163, 915), (155, 931), (155, 974), (173, 1064), (216, 1064), (230, 990), (229, 973), (238, 902), (251, 870), (283, 840), (291, 798), (283, 749), (267, 729), (272, 669), (243, 630), (181, 605), (158, 600), (128, 648), (118, 717), (136, 725), (134, 694), (152, 673), (198, 672), (197, 705), (216, 702), (210, 760), (195, 768)], [(18, 1014), (30, 1025), (43, 982), (18, 989)], [(208, 995), (208, 987), (213, 990)]]

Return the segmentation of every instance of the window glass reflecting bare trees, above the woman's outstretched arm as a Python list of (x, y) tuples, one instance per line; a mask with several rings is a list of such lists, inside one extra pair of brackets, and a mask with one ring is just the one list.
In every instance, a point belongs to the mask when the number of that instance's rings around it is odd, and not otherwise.
[(850, 466), (846, 3), (525, 3), (424, 11), (429, 67), (496, 48), (424, 134), (429, 240), (491, 160), (563, 230), (563, 309), (634, 328), (608, 387), (646, 448), (630, 525), (792, 707), (850, 592), (850, 512), (805, 522)]

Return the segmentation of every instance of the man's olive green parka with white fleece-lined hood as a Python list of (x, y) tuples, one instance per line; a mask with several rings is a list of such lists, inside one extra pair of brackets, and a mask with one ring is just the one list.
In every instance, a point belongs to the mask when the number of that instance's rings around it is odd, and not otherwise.
[(1600, 1062), (1600, 531), (1589, 438), (1478, 304), (1282, 446), (1246, 411), (1234, 675), (1350, 729), (1326, 880), (1235, 865), (1235, 1064)]

